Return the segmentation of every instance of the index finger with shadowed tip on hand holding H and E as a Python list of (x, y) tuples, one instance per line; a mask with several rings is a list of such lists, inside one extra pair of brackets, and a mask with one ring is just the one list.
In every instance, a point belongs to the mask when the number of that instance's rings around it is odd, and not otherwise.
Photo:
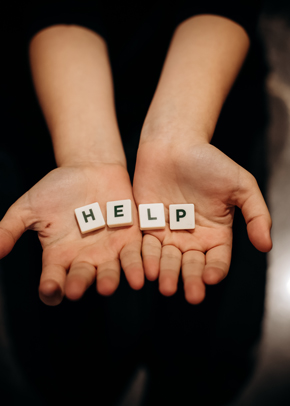
[(39, 282), (39, 297), (49, 306), (58, 305), (64, 296), (66, 269), (59, 264), (43, 265)]

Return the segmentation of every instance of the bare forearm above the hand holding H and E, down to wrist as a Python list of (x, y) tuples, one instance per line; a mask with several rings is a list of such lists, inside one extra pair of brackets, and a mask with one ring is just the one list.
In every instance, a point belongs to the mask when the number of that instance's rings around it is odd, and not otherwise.
[(105, 41), (78, 26), (53, 26), (31, 41), (37, 96), (58, 166), (126, 159)]

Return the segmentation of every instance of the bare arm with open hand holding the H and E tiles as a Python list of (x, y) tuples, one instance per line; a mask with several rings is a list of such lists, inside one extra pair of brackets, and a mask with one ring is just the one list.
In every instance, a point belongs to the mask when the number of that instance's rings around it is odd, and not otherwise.
[[(47, 121), (58, 168), (15, 202), (0, 222), (0, 258), (26, 229), (43, 248), (41, 300), (59, 304), (79, 299), (97, 280), (112, 294), (121, 266), (128, 283), (144, 283), (142, 235), (114, 109), (107, 48), (94, 32), (54, 26), (31, 42), (30, 59), (37, 95)], [(82, 235), (74, 210), (98, 202), (130, 199), (133, 225), (107, 226)]]

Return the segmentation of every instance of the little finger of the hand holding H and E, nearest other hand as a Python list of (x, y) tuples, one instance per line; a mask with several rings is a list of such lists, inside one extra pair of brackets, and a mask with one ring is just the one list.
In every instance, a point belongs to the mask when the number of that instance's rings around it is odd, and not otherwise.
[(141, 241), (134, 241), (125, 245), (120, 253), (120, 261), (131, 288), (141, 289), (144, 285)]

